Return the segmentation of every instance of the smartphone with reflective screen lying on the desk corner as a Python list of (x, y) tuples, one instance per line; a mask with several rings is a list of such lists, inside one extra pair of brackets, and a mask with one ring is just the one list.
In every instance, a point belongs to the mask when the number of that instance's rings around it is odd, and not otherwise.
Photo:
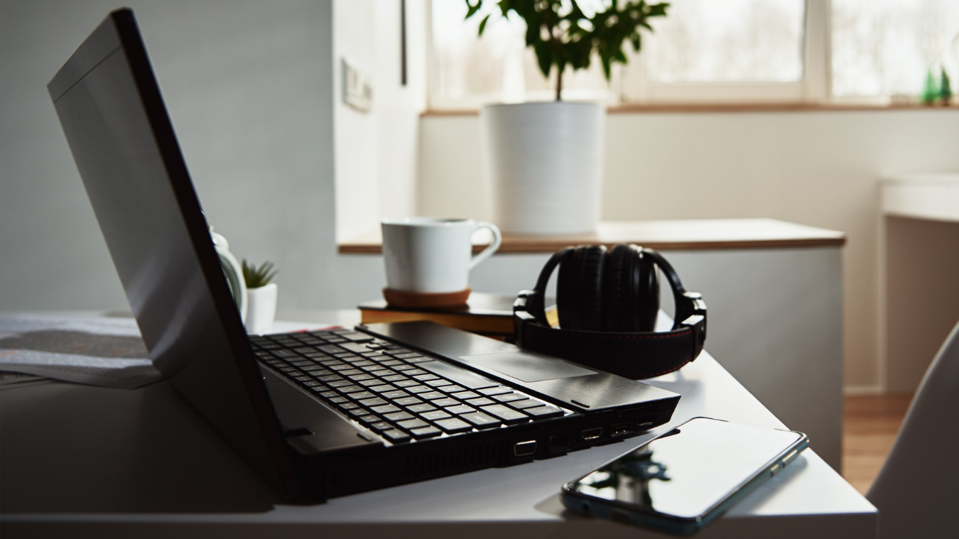
[(624, 524), (689, 535), (775, 476), (806, 434), (696, 417), (563, 485), (563, 504)]

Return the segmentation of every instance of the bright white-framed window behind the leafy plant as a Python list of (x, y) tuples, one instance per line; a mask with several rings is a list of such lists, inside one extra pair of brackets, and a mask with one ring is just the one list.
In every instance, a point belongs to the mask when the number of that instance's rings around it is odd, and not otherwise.
[[(585, 12), (602, 0), (579, 2)], [(497, 12), (477, 37), (465, 2), (433, 0), (432, 108), (550, 100), (524, 44), (525, 24)], [(955, 0), (672, 0), (643, 51), (606, 82), (598, 61), (563, 77), (564, 99), (656, 103), (915, 103), (932, 70), (959, 86)]]

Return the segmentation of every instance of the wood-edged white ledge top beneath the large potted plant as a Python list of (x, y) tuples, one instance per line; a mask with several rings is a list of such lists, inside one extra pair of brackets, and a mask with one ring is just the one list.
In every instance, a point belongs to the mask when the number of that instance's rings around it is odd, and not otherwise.
[[(660, 250), (843, 246), (842, 232), (773, 219), (620, 221), (599, 223), (595, 234), (518, 236), (503, 234), (498, 252), (553, 252), (577, 244), (637, 244)], [(482, 246), (474, 246), (479, 251)], [(341, 253), (379, 253), (379, 228), (340, 244)]]

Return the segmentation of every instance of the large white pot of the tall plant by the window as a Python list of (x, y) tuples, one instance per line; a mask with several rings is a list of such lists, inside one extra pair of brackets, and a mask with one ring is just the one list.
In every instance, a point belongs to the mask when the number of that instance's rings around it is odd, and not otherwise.
[(603, 105), (486, 105), (480, 116), (493, 221), (503, 232), (596, 231), (606, 133)]

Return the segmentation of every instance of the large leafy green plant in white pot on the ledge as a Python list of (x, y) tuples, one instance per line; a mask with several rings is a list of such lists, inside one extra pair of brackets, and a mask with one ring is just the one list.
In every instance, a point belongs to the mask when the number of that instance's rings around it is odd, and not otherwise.
[[(466, 18), (482, 0), (466, 0)], [(668, 4), (643, 0), (605, 3), (588, 16), (574, 0), (501, 0), (503, 16), (526, 21), (526, 46), (545, 77), (556, 69), (556, 100), (486, 105), (480, 111), (493, 187), (494, 221), (514, 234), (577, 234), (596, 230), (605, 134), (605, 110), (596, 103), (562, 101), (563, 72), (590, 66), (594, 54), (609, 81), (613, 63), (626, 63), (623, 42), (639, 52), (649, 17)], [(479, 35), (489, 22), (479, 23)]]

